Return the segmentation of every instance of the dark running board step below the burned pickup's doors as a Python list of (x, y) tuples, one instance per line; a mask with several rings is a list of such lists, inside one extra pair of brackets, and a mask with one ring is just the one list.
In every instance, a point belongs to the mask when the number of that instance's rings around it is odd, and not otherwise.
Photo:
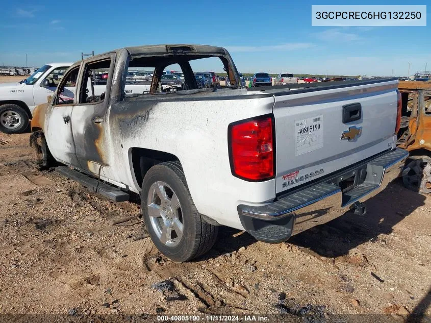
[[(67, 177), (68, 179), (71, 179), (75, 182), (80, 183), (82, 186), (87, 187), (94, 193), (98, 193), (100, 195), (108, 197), (110, 200), (114, 202), (129, 201), (129, 197), (130, 197), (129, 194), (126, 192), (123, 192), (118, 187), (109, 185), (102, 181), (100, 181), (99, 185), (97, 186), (97, 182), (98, 182), (97, 179), (89, 177), (84, 173), (79, 172), (77, 170), (73, 170), (67, 166), (56, 167), (56, 172), (62, 176)], [(97, 192), (96, 192), (96, 188), (97, 188)]]

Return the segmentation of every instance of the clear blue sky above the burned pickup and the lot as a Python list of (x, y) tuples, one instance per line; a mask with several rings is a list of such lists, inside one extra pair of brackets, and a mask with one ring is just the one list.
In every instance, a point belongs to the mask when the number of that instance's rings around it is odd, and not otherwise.
[[(347, 5), (348, 1), (315, 1)], [(351, 4), (371, 5), (361, 1)], [(379, 5), (405, 5), (383, 1)], [(414, 5), (426, 5), (425, 1)], [(429, 3), (428, 3), (429, 4)], [(431, 6), (427, 7), (427, 17)], [(3, 3), (0, 64), (77, 61), (142, 44), (197, 43), (227, 48), (239, 71), (407, 75), (431, 70), (431, 27), (312, 27), (299, 1), (19, 1)], [(5, 14), (7, 13), (7, 14)], [(218, 66), (208, 69), (219, 71)]]

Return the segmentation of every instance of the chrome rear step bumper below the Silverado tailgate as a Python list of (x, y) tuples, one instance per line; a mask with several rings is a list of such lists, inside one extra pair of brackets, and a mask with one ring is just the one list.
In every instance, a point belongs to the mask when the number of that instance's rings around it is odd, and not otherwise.
[(400, 175), (408, 156), (407, 151), (397, 148), (349, 169), (349, 174), (364, 172), (365, 180), (344, 193), (332, 183), (346, 173), (340, 172), (265, 206), (239, 205), (241, 223), (258, 240), (286, 241), (292, 235), (331, 221), (384, 190)]

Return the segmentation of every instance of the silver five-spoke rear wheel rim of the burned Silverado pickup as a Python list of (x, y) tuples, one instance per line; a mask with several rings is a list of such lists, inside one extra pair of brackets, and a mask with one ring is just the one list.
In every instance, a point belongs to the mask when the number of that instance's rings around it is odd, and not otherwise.
[(178, 196), (168, 184), (157, 181), (150, 186), (147, 209), (160, 241), (167, 246), (178, 245), (183, 236), (183, 213)]

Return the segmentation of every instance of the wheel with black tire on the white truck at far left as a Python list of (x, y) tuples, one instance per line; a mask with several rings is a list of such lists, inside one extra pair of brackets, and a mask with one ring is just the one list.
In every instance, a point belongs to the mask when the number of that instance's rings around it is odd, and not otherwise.
[(22, 107), (16, 104), (0, 106), (0, 131), (7, 134), (19, 134), (29, 126), (29, 116)]

